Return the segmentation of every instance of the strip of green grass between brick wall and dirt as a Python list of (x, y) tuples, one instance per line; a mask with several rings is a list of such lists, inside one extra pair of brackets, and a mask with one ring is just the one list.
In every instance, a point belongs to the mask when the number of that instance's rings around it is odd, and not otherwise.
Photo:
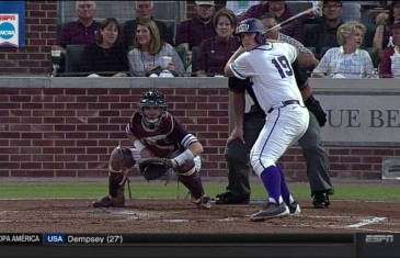
[[(205, 191), (209, 197), (215, 197), (225, 191), (225, 183), (205, 182)], [(308, 183), (289, 183), (295, 199), (310, 199)], [(0, 186), (0, 199), (30, 199), (30, 198), (82, 198), (96, 199), (107, 194), (106, 184), (7, 184)], [(359, 200), (359, 201), (400, 201), (399, 187), (385, 184), (335, 184), (332, 200)], [(175, 182), (163, 186), (161, 181), (130, 183), (133, 198), (184, 198), (187, 190)], [(127, 194), (126, 194), (127, 195)], [(261, 183), (252, 183), (252, 199), (265, 199), (266, 191)]]

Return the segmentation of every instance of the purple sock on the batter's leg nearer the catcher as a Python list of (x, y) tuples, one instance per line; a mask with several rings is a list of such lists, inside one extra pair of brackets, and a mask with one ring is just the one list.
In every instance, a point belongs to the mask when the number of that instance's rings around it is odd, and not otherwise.
[(268, 197), (279, 204), (281, 197), (281, 172), (275, 166), (270, 166), (262, 171), (261, 181), (263, 182)]

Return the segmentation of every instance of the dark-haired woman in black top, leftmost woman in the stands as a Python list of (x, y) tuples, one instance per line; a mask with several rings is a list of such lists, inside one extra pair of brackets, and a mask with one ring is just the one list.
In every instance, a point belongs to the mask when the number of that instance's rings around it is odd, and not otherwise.
[(115, 18), (106, 18), (99, 26), (95, 43), (84, 47), (80, 71), (124, 77), (128, 70), (126, 51), (121, 44), (121, 25)]

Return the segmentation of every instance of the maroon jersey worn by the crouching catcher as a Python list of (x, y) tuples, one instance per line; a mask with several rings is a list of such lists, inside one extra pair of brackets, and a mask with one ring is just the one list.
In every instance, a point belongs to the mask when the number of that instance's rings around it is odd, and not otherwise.
[(190, 134), (182, 123), (167, 112), (160, 126), (149, 130), (144, 124), (144, 116), (135, 112), (126, 125), (126, 133), (141, 139), (156, 157), (168, 158), (170, 154), (180, 148), (187, 148), (196, 136)]

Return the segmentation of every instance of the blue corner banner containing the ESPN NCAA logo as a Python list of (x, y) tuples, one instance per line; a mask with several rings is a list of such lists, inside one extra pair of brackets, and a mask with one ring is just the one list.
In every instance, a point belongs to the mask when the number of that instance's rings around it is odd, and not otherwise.
[(24, 1), (0, 1), (0, 47), (25, 47)]

